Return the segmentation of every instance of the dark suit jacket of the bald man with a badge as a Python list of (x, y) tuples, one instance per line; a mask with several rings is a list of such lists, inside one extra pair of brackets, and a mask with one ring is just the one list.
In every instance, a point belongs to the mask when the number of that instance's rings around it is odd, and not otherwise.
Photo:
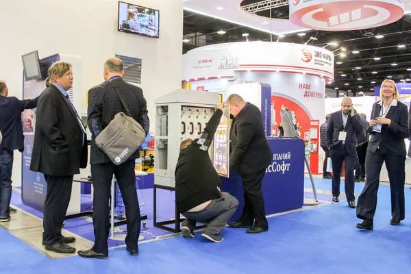
[(347, 132), (345, 137), (345, 149), (349, 154), (356, 154), (358, 145), (357, 133), (364, 134), (364, 127), (360, 121), (360, 115), (348, 115), (347, 124), (344, 127), (341, 110), (333, 112), (327, 121), (326, 142), (328, 149), (334, 149), (341, 145), (343, 141), (338, 140), (340, 132)]

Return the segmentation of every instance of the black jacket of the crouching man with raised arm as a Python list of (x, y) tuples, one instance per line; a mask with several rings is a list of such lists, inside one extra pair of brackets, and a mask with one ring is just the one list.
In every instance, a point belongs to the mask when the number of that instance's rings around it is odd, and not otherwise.
[(217, 109), (200, 138), (179, 153), (175, 167), (175, 203), (179, 212), (187, 212), (221, 196), (221, 179), (212, 165), (208, 149), (222, 115), (223, 112)]

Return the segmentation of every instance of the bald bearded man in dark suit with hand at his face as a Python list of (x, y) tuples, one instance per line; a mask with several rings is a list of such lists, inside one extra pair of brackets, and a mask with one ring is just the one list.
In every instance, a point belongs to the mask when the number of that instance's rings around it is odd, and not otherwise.
[(344, 97), (341, 110), (329, 116), (326, 142), (332, 160), (332, 201), (338, 202), (340, 179), (345, 161), (345, 196), (350, 208), (356, 208), (354, 197), (354, 166), (356, 164), (357, 132), (363, 133), (360, 116), (354, 113), (351, 98)]

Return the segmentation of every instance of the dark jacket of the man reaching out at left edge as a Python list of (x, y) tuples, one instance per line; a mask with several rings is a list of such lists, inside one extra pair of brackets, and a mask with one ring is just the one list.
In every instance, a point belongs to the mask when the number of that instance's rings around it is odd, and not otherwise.
[(0, 149), (20, 152), (24, 150), (23, 127), (21, 112), (36, 108), (38, 97), (32, 100), (19, 100), (16, 97), (4, 97), (0, 95), (0, 132), (3, 141)]

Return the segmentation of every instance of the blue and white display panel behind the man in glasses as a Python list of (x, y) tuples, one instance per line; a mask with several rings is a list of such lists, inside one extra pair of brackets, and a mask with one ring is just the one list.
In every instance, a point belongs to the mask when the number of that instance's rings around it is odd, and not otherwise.
[[(26, 81), (23, 75), (23, 98), (38, 97), (45, 90), (45, 78), (47, 69), (60, 60), (58, 54), (40, 60), (43, 79)], [(32, 147), (34, 142), (36, 109), (25, 110), (22, 113), (23, 134), (25, 150), (21, 158), (21, 199), (27, 206), (43, 211), (43, 203), (46, 197), (47, 184), (42, 173), (30, 171), (32, 162)]]

